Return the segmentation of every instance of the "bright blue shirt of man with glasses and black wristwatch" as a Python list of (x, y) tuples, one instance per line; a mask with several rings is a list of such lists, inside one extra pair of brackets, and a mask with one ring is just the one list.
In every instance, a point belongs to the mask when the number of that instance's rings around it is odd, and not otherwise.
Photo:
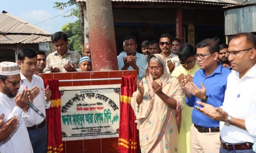
[[(231, 71), (224, 68), (220, 62), (218, 62), (218, 64), (219, 66), (208, 77), (205, 74), (205, 70), (200, 69), (193, 78), (193, 83), (200, 89), (202, 88), (201, 82), (203, 82), (206, 88), (206, 95), (208, 96), (206, 103), (214, 107), (223, 105), (225, 90), (227, 88), (227, 78), (229, 73), (231, 73)], [(192, 95), (190, 98), (186, 97), (185, 101), (187, 105), (194, 107), (192, 111), (192, 121), (194, 124), (205, 128), (219, 127), (219, 121), (212, 120), (195, 108), (195, 106), (202, 107), (196, 103), (196, 101), (201, 101), (201, 99)]]

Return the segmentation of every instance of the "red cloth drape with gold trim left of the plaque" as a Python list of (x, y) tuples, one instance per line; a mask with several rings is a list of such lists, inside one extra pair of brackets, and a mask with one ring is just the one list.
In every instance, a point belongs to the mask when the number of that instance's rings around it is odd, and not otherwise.
[(46, 109), (46, 122), (48, 129), (47, 153), (63, 152), (61, 120), (60, 120), (60, 91), (58, 79), (45, 79), (44, 86), (52, 91), (51, 107)]

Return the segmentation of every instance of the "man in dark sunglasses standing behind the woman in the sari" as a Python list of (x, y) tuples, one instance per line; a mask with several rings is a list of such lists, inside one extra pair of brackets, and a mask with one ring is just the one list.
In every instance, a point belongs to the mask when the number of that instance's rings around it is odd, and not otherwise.
[(172, 37), (169, 34), (162, 34), (159, 38), (159, 47), (161, 55), (165, 57), (167, 72), (171, 74), (174, 68), (180, 65), (179, 57), (171, 52)]

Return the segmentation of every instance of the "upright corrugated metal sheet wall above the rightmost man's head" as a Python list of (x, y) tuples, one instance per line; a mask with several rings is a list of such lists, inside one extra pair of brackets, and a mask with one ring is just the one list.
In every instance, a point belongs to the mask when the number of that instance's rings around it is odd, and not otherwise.
[(225, 11), (225, 35), (241, 32), (256, 32), (255, 5)]

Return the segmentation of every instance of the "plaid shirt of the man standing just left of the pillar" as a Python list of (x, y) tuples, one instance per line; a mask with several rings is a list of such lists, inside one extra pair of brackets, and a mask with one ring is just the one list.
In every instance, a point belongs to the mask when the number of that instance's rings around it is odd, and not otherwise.
[(51, 66), (53, 68), (58, 67), (60, 69), (60, 72), (67, 72), (63, 66), (68, 62), (73, 62), (73, 64), (75, 65), (75, 69), (77, 69), (80, 58), (82, 58), (82, 56), (78, 52), (74, 52), (69, 49), (67, 53), (62, 57), (58, 54), (57, 51), (55, 51), (47, 56), (44, 72), (51, 72)]

